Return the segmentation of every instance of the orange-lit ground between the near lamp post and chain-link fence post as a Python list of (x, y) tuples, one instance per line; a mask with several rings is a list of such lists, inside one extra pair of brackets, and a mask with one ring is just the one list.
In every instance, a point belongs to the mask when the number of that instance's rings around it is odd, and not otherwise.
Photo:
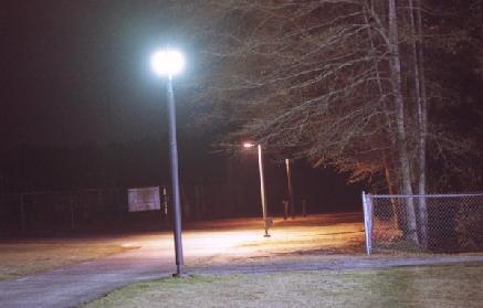
[[(274, 219), (270, 237), (260, 219), (204, 222), (185, 233), (187, 265), (260, 259), (301, 254), (363, 254), (359, 214), (322, 214), (296, 220)], [(199, 226), (204, 230), (198, 230)], [(146, 242), (145, 242), (146, 243)], [(134, 242), (133, 245), (143, 245)], [(156, 245), (156, 243), (151, 243)]]

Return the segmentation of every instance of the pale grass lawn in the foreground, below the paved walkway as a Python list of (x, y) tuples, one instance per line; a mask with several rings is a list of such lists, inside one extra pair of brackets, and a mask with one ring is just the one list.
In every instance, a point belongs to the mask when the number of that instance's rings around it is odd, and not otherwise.
[(139, 283), (94, 307), (482, 307), (483, 264), (193, 276)]

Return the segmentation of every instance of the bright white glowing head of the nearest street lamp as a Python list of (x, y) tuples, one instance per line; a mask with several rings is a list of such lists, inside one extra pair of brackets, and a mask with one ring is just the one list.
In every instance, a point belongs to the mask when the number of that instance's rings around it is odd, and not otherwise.
[(151, 68), (160, 76), (178, 75), (185, 68), (185, 57), (179, 51), (161, 50), (153, 54)]

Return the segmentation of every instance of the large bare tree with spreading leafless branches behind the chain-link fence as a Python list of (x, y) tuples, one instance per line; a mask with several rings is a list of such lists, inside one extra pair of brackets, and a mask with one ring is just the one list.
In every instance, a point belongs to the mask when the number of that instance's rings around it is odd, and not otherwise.
[[(444, 137), (429, 132), (421, 1), (203, 6), (195, 11), (216, 72), (197, 82), (199, 98), (217, 102), (212, 116), (232, 129), (228, 141), (250, 136), (354, 181), (382, 176), (391, 193), (426, 193), (427, 139)], [(401, 227), (426, 245), (426, 204), (408, 203)]]

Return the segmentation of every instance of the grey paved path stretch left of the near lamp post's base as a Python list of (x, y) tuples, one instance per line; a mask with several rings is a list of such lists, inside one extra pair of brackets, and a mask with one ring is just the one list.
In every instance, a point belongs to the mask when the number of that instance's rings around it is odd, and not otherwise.
[(118, 287), (172, 273), (172, 258), (140, 248), (0, 283), (0, 307), (77, 307)]

